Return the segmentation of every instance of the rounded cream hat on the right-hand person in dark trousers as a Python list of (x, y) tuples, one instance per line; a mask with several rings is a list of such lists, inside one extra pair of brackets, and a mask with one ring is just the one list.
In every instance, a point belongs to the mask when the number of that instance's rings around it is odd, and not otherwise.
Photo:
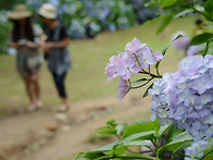
[(41, 15), (46, 19), (51, 19), (51, 20), (57, 19), (57, 8), (50, 3), (42, 4), (40, 7), (38, 13), (39, 13), (39, 15)]

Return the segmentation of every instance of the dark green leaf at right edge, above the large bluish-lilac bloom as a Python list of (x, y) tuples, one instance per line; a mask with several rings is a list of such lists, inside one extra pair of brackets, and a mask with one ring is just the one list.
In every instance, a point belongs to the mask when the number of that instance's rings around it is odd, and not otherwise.
[(213, 34), (210, 34), (210, 33), (200, 34), (191, 39), (189, 46), (195, 46), (195, 45), (206, 42), (211, 38), (213, 38)]

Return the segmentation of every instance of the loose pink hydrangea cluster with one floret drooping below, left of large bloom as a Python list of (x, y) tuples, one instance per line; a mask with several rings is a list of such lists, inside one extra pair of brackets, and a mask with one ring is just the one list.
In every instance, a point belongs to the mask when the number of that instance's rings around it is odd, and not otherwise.
[(118, 100), (122, 100), (131, 88), (130, 83), (128, 83), (131, 73), (138, 73), (161, 59), (163, 59), (162, 53), (158, 51), (153, 53), (152, 49), (147, 44), (141, 44), (138, 38), (134, 38), (131, 42), (126, 45), (125, 52), (118, 51), (118, 56), (111, 57), (110, 63), (105, 67), (105, 73), (109, 75), (106, 81), (120, 76)]

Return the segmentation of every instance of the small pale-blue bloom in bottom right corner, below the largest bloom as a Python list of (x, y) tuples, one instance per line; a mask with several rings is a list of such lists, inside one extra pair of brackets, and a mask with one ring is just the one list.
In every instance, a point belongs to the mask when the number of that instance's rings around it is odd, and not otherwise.
[[(197, 151), (205, 148), (206, 145), (208, 145), (206, 140), (200, 140), (200, 141), (192, 143), (190, 147), (185, 149), (185, 155), (189, 156), (189, 157), (192, 157)], [(184, 160), (191, 160), (191, 158), (189, 158), (189, 157), (185, 157)], [(197, 155), (196, 157), (199, 158), (199, 159), (202, 158), (203, 152)], [(195, 160), (198, 160), (198, 159), (195, 159)]]

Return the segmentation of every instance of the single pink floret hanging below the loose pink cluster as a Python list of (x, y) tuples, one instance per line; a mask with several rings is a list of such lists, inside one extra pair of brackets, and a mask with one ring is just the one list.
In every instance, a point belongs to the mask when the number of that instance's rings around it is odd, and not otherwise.
[(126, 96), (126, 94), (130, 90), (130, 86), (128, 81), (120, 78), (120, 83), (117, 85), (117, 100), (122, 101), (122, 99)]

